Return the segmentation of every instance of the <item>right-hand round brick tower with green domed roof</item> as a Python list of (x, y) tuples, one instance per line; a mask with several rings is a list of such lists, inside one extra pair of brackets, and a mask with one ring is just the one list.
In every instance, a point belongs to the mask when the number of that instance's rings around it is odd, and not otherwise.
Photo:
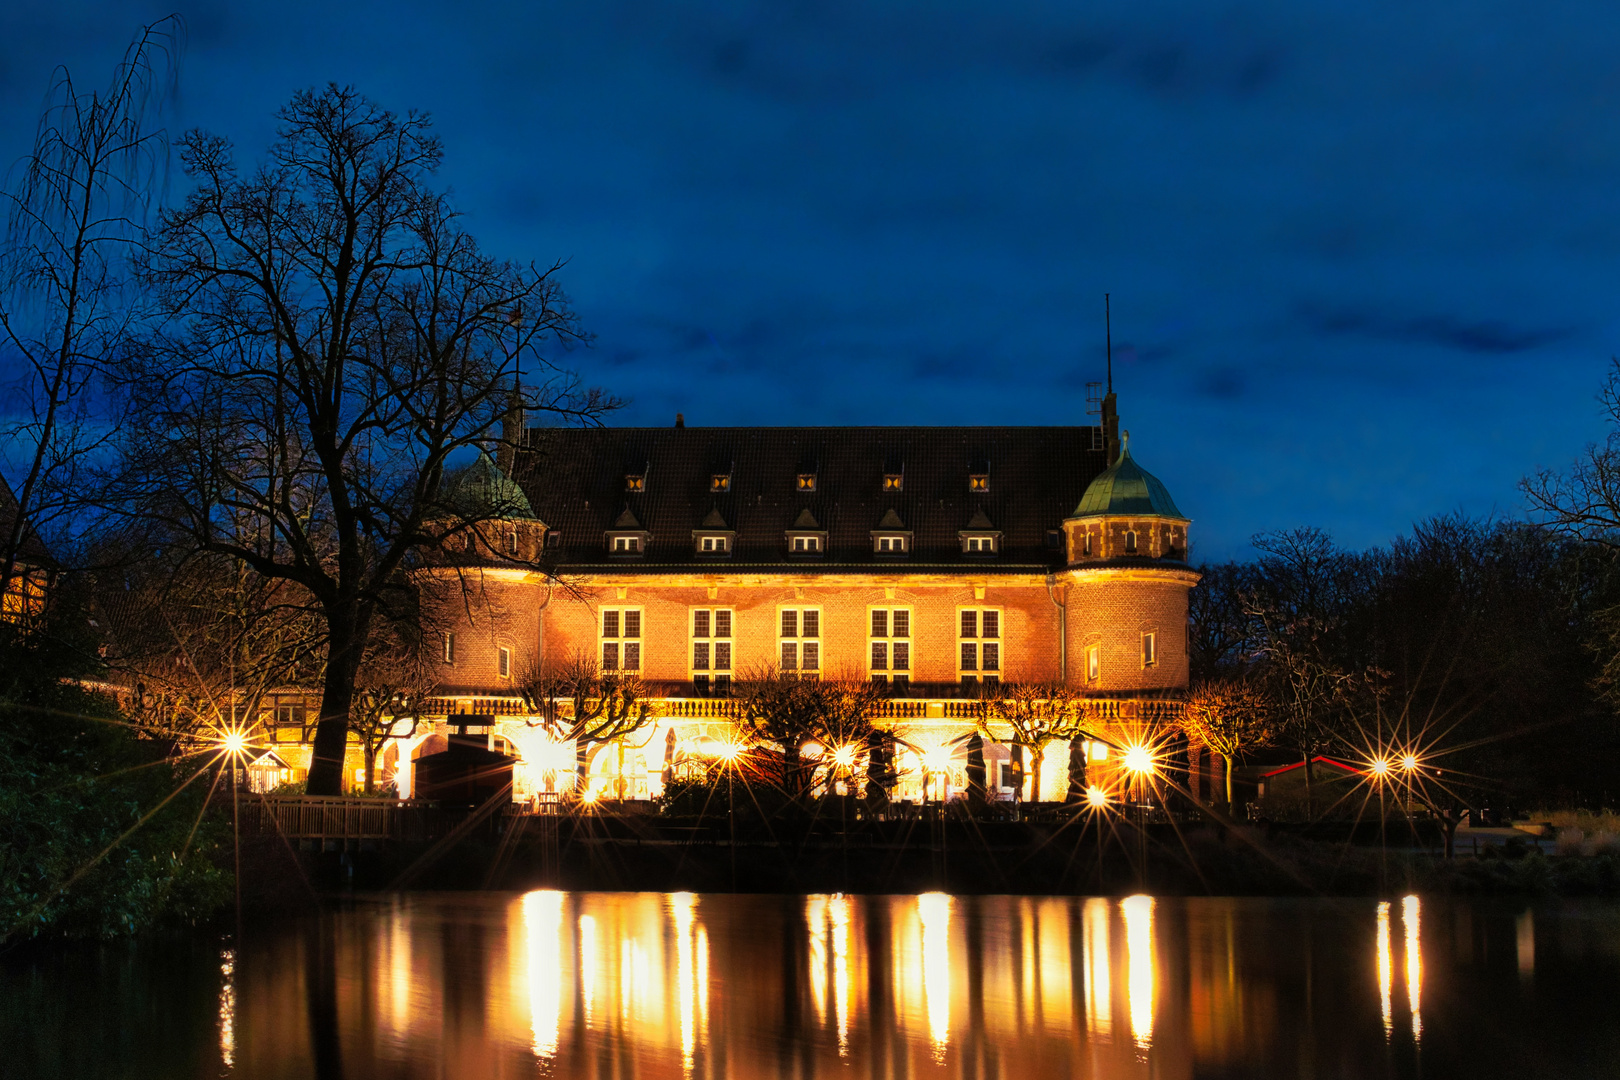
[(1187, 688), (1189, 520), (1157, 476), (1119, 457), (1063, 521), (1069, 685), (1094, 696)]

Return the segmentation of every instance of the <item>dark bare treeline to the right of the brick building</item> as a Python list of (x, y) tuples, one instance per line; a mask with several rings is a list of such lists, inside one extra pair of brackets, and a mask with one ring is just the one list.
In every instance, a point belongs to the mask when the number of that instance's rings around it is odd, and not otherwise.
[(1620, 792), (1605, 547), (1456, 515), (1364, 552), (1320, 529), (1254, 546), (1202, 567), (1191, 594), (1189, 724), (1212, 743), (1356, 764), (1411, 753), (1437, 813)]

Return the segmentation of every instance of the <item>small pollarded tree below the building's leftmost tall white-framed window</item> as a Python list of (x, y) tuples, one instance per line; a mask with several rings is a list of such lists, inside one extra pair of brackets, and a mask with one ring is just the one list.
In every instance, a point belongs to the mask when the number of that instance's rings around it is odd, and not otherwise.
[(583, 653), (556, 667), (530, 672), (518, 693), (554, 742), (573, 743), (575, 790), (583, 790), (591, 746), (617, 742), (653, 722), (642, 677), (604, 670)]

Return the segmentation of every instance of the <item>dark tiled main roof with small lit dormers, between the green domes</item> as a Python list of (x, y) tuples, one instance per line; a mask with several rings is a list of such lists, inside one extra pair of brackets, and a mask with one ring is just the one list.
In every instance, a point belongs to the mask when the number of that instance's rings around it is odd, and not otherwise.
[[(573, 565), (896, 567), (1061, 563), (1047, 542), (1108, 465), (1094, 427), (535, 427), (514, 478), (535, 515), (561, 533), (559, 562)], [(988, 463), (988, 468), (987, 468)], [(625, 491), (643, 474), (643, 491)], [(990, 474), (970, 492), (972, 473)], [(799, 491), (815, 473), (815, 491)], [(885, 473), (902, 489), (883, 491)], [(727, 491), (713, 478), (729, 474)], [(735, 529), (724, 559), (695, 552), (692, 531), (711, 513)], [(810, 515), (808, 518), (805, 515)], [(906, 557), (876, 555), (872, 531), (893, 517), (910, 531)], [(1001, 552), (966, 555), (959, 531), (1001, 531)], [(635, 521), (637, 525), (620, 525)], [(611, 559), (603, 534), (643, 528), (646, 552)], [(826, 529), (820, 559), (789, 557), (787, 529)], [(893, 525), (886, 526), (893, 528)]]

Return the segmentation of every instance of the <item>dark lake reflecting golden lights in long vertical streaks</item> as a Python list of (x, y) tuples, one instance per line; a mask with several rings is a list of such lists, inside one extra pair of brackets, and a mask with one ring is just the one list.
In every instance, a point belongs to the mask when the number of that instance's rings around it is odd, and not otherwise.
[(0, 962), (0, 1077), (1610, 1077), (1620, 905), (407, 894)]

